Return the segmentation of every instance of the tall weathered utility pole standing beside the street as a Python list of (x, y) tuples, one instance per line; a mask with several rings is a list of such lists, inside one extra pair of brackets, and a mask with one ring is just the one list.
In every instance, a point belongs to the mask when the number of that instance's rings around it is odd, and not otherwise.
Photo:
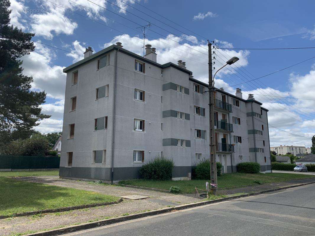
[(213, 84), (212, 79), (212, 44), (208, 40), (208, 69), (209, 69), (209, 148), (210, 148), (210, 178), (211, 178), (211, 193), (216, 195), (218, 188), (218, 179), (216, 171), (216, 158), (215, 158), (215, 129), (214, 129), (214, 98), (213, 98)]

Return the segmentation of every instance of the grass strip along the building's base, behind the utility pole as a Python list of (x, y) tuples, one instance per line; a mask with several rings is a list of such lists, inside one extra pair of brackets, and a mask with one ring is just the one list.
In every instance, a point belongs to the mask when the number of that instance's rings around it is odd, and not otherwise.
[[(258, 174), (245, 174), (245, 173), (229, 173), (223, 174), (218, 177), (218, 187), (219, 189), (229, 189), (229, 188), (239, 188), (249, 185), (258, 185), (255, 181), (261, 181), (264, 183), (275, 183), (283, 182), (291, 179), (302, 179), (302, 178), (311, 178), (315, 177), (312, 175), (303, 175), (303, 174), (290, 174), (290, 173), (258, 173)], [(131, 179), (131, 180), (122, 180), (119, 183), (128, 184), (140, 187), (149, 187), (149, 188), (160, 188), (169, 190), (171, 186), (178, 186), (183, 193), (194, 193), (195, 187), (199, 189), (205, 189), (205, 183), (210, 180), (178, 180), (178, 181), (154, 181), (154, 180), (142, 180), (142, 179)]]

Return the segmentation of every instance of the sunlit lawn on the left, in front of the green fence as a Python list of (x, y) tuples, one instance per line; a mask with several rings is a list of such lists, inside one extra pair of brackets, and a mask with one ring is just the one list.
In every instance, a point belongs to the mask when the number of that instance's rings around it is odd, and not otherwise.
[[(39, 172), (42, 172), (41, 174)], [(54, 209), (66, 206), (77, 206), (92, 203), (112, 202), (119, 198), (47, 184), (20, 181), (4, 176), (34, 176), (58, 174), (58, 171), (22, 171), (0, 173), (0, 215), (11, 215), (18, 212)]]

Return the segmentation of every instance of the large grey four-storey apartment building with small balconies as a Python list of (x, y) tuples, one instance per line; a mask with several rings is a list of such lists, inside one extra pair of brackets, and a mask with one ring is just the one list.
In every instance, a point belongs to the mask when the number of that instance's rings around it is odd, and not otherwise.
[[(175, 162), (173, 179), (190, 179), (209, 158), (208, 85), (185, 62), (158, 64), (155, 48), (142, 57), (121, 43), (64, 69), (66, 94), (60, 172), (62, 178), (117, 182), (139, 178), (139, 168), (160, 155)], [(216, 159), (223, 173), (254, 161), (271, 170), (267, 109), (215, 91)]]

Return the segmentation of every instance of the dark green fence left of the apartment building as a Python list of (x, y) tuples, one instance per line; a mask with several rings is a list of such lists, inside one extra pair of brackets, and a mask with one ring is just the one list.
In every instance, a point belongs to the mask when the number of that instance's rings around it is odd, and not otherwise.
[(55, 169), (59, 168), (58, 156), (7, 156), (0, 155), (0, 169)]

